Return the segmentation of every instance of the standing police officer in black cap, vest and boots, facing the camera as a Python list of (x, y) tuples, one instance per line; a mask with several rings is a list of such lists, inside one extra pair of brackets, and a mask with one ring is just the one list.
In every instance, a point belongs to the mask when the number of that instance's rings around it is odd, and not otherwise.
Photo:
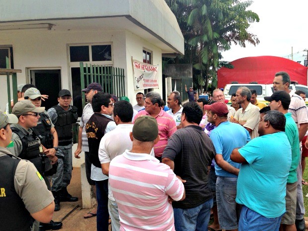
[(71, 106), (72, 95), (69, 90), (63, 89), (59, 92), (59, 104), (48, 110), (51, 121), (58, 133), (59, 150), (57, 173), (53, 175), (52, 192), (55, 197), (55, 211), (60, 210), (60, 201), (77, 201), (68, 193), (67, 186), (72, 178), (72, 146), (73, 146), (73, 124), (77, 122), (77, 107)]

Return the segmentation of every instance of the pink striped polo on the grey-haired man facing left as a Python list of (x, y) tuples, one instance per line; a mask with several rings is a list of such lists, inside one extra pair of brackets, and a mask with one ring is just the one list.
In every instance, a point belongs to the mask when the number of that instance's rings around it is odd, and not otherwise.
[[(134, 118), (135, 120), (143, 115), (150, 115), (146, 110), (142, 110), (138, 112), (138, 114)], [(159, 114), (155, 117), (157, 124), (158, 124), (158, 135), (160, 139), (156, 145), (154, 145), (154, 154), (155, 157), (160, 157), (163, 153), (163, 150), (167, 146), (168, 138), (171, 137), (173, 133), (176, 132), (176, 125), (175, 121), (173, 120), (172, 116), (166, 113), (163, 110), (160, 110)]]

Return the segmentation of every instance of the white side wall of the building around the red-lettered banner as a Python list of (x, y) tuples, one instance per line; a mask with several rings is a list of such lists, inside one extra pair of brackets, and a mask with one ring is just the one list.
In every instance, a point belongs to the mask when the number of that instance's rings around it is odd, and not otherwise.
[(128, 90), (127, 96), (130, 99), (130, 102), (135, 105), (136, 101), (136, 94), (138, 92), (144, 92), (144, 90), (134, 90), (134, 82), (133, 82), (133, 65), (132, 65), (132, 57), (135, 60), (143, 62), (143, 49), (146, 48), (151, 50), (152, 58), (153, 58), (153, 65), (158, 65), (158, 72), (159, 72), (159, 88), (154, 88), (154, 91), (162, 94), (162, 71), (161, 71), (161, 49), (154, 46), (153, 44), (147, 42), (146, 40), (142, 39), (136, 34), (133, 34), (130, 31), (126, 31), (126, 62), (127, 62), (127, 76), (128, 76)]

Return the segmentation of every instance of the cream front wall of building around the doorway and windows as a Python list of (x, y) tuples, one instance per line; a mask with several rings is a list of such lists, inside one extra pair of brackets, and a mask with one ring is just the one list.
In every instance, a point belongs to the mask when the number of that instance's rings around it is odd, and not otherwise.
[[(126, 70), (125, 31), (17, 31), (0, 33), (0, 45), (12, 45), (17, 83), (30, 83), (27, 68), (61, 69), (62, 88), (71, 89), (67, 44), (112, 42), (114, 66)], [(141, 50), (142, 55), (142, 50)], [(52, 86), (51, 86), (52, 87)], [(7, 101), (6, 76), (0, 78), (0, 108)], [(42, 92), (43, 93), (43, 92)]]

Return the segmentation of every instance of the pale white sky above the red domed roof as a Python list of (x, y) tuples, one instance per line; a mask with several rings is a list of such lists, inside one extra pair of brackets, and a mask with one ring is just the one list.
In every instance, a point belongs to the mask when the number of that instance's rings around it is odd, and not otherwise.
[[(253, 0), (249, 8), (259, 15), (248, 32), (257, 35), (256, 46), (246, 43), (246, 48), (231, 44), (231, 50), (223, 52), (224, 61), (251, 56), (278, 56), (302, 61), (308, 49), (308, 0)], [(304, 57), (304, 56), (305, 57)]]

